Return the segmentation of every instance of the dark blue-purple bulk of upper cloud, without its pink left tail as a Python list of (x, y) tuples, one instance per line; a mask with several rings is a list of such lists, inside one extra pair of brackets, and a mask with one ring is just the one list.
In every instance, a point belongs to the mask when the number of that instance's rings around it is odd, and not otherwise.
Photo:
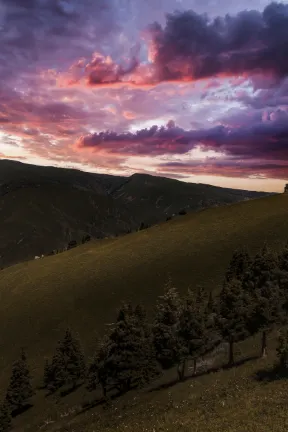
[(288, 73), (288, 5), (243, 11), (212, 21), (193, 11), (170, 14), (166, 27), (151, 27), (160, 81), (217, 74)]

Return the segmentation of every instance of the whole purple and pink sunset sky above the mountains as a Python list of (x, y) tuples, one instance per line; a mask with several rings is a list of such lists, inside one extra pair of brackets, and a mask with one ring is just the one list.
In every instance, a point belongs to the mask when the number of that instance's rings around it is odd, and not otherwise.
[(0, 158), (288, 183), (288, 1), (0, 0)]

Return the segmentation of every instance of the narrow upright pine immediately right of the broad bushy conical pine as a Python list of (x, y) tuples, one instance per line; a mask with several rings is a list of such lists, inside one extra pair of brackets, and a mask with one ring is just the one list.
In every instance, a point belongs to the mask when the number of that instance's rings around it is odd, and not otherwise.
[(157, 302), (153, 323), (153, 341), (157, 360), (163, 369), (178, 365), (182, 360), (181, 341), (178, 336), (181, 301), (175, 288), (167, 291)]

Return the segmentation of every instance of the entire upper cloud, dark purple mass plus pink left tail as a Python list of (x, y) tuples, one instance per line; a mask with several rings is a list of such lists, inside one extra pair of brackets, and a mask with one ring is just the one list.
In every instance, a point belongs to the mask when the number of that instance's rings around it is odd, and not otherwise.
[(271, 3), (262, 13), (213, 19), (191, 10), (174, 12), (167, 15), (165, 27), (150, 25), (145, 38), (149, 64), (140, 63), (139, 52), (126, 67), (97, 53), (92, 61), (81, 62), (81, 73), (68, 83), (85, 77), (88, 85), (143, 86), (259, 72), (282, 79), (288, 73), (288, 5), (281, 3)]

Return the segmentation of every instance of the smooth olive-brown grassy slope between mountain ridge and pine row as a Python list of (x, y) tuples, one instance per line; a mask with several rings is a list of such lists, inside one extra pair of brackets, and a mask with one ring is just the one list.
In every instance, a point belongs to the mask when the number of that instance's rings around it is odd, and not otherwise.
[[(180, 290), (216, 289), (233, 250), (288, 238), (288, 196), (208, 209), (149, 230), (90, 243), (0, 273), (0, 383), (27, 350), (36, 375), (67, 325), (86, 352), (125, 299), (151, 306), (168, 276)], [(90, 353), (89, 353), (90, 354)]]

